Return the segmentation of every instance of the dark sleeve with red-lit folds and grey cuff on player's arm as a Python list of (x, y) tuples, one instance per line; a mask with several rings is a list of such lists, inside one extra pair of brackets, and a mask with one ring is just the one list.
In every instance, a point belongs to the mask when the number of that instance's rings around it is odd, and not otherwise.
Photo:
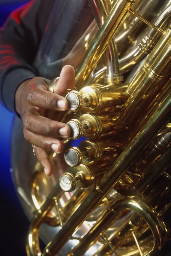
[(13, 11), (0, 29), (0, 101), (15, 112), (18, 86), (37, 74), (33, 61), (53, 6), (52, 0), (31, 0)]

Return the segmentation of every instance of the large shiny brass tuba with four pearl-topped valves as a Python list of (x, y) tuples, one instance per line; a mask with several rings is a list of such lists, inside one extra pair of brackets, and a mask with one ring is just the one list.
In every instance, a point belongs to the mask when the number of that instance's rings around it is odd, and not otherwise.
[[(60, 120), (72, 134), (63, 140), (63, 154), (49, 155), (51, 177), (25, 142), (21, 121), (16, 117), (13, 123), (11, 172), (31, 222), (27, 255), (165, 256), (171, 216), (171, 1), (89, 4), (97, 28), (84, 35), (76, 87), (66, 93), (69, 110)], [(56, 84), (57, 78), (49, 90)]]

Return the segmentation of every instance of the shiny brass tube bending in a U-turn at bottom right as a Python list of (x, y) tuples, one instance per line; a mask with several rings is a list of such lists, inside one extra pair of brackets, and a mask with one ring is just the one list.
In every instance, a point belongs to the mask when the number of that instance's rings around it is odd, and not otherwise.
[(84, 236), (83, 241), (81, 241), (68, 256), (83, 255), (88, 248), (97, 241), (100, 234), (102, 232), (104, 233), (126, 209), (134, 210), (136, 213), (139, 213), (150, 226), (154, 239), (154, 246), (151, 250), (153, 253), (150, 255), (155, 255), (157, 250), (161, 248), (167, 240), (166, 229), (163, 222), (159, 219), (156, 212), (143, 201), (121, 199), (96, 222), (92, 229)]

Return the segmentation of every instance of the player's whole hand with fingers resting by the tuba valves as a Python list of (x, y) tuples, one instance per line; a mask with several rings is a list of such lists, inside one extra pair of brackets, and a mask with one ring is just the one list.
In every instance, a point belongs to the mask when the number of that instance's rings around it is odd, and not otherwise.
[(75, 70), (72, 66), (64, 66), (55, 86), (55, 93), (48, 91), (49, 80), (36, 77), (23, 82), (15, 94), (15, 105), (24, 125), (24, 138), (34, 145), (34, 153), (42, 165), (45, 174), (52, 174), (52, 165), (48, 151), (61, 153), (63, 143), (58, 138), (70, 136), (70, 128), (65, 123), (48, 118), (50, 110), (65, 111), (68, 101), (65, 97), (67, 89), (75, 87)]

